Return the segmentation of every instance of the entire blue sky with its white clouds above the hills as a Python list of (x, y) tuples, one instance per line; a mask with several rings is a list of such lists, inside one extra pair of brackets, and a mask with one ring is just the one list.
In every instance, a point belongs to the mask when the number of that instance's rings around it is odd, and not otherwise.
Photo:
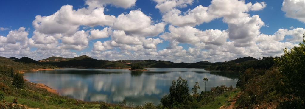
[(305, 0), (1, 0), (0, 56), (222, 62), (302, 41)]

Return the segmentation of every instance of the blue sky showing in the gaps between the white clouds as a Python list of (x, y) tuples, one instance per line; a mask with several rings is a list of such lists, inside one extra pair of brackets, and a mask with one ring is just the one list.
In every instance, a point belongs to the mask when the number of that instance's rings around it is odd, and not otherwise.
[[(104, 2), (103, 0), (100, 0), (101, 2)], [(131, 1), (133, 2), (133, 0), (126, 0), (127, 2)], [(166, 2), (166, 0), (164, 0)], [(228, 58), (219, 58), (218, 56), (213, 57), (212, 54), (206, 54), (209, 56), (195, 56), (195, 55), (191, 55), (191, 54), (185, 54), (183, 57), (173, 57), (170, 55), (160, 55), (160, 53), (158, 53), (159, 51), (162, 51), (164, 49), (168, 50), (170, 43), (172, 41), (176, 41), (179, 42), (178, 39), (164, 39), (162, 37), (160, 37), (160, 35), (163, 35), (164, 33), (172, 33), (171, 31), (169, 31), (169, 27), (170, 25), (173, 25), (176, 28), (180, 28), (180, 27), (184, 27), (185, 25), (181, 26), (181, 25), (175, 25), (172, 24), (169, 21), (165, 21), (163, 20), (163, 16), (165, 15), (164, 13), (160, 12), (160, 9), (156, 8), (156, 5), (160, 5), (162, 3), (165, 2), (156, 2), (153, 0), (136, 0), (135, 4), (133, 4), (132, 6), (128, 7), (128, 8), (123, 8), (123, 6), (119, 6), (117, 5), (115, 2), (114, 3), (105, 3), (103, 4), (101, 7), (104, 9), (104, 14), (105, 15), (113, 15), (116, 18), (120, 15), (120, 14), (124, 14), (127, 15), (130, 11), (133, 10), (137, 10), (140, 9), (140, 11), (142, 13), (144, 13), (146, 16), (151, 17), (151, 24), (157, 24), (157, 23), (165, 23), (165, 27), (163, 32), (160, 32), (160, 34), (156, 35), (156, 36), (144, 36), (145, 38), (159, 38), (161, 40), (163, 40), (162, 43), (158, 43), (156, 44), (156, 48), (155, 50), (152, 50), (154, 52), (156, 52), (157, 54), (153, 55), (153, 54), (149, 54), (149, 58), (153, 58), (156, 60), (162, 60), (162, 59), (168, 59), (168, 60), (176, 60), (178, 59), (178, 61), (188, 61), (188, 62), (193, 62), (198, 60), (197, 58), (192, 58), (190, 60), (187, 59), (187, 57), (189, 56), (193, 56), (193, 57), (199, 57), (199, 60), (209, 60), (212, 59), (210, 61), (221, 61), (221, 60), (228, 60), (228, 59), (233, 59), (239, 56), (246, 56), (246, 55), (252, 55), (252, 56), (257, 56), (255, 53), (254, 54), (241, 54), (241, 53), (231, 53), (229, 52), (229, 54), (232, 54), (232, 56), (229, 56)], [(179, 0), (167, 0), (167, 1), (176, 1), (178, 2)], [(174, 9), (178, 9), (182, 12), (181, 16), (187, 14), (188, 9), (192, 10), (194, 8), (196, 8), (199, 5), (208, 7), (209, 5), (211, 5), (211, 1), (209, 0), (189, 0), (192, 3), (188, 4), (185, 3), (184, 5), (186, 5), (185, 7), (179, 7), (179, 6), (175, 6), (173, 7)], [(228, 0), (228, 1), (234, 1), (236, 2), (237, 0)], [(254, 16), (254, 15), (258, 15), (259, 18), (261, 19), (262, 22), (264, 22), (264, 25), (260, 25), (260, 29), (258, 30), (260, 32), (260, 34), (264, 34), (264, 35), (274, 35), (274, 33), (276, 33), (279, 29), (288, 29), (288, 30), (293, 30), (294, 28), (304, 28), (304, 22), (298, 20), (300, 18), (295, 18), (295, 17), (291, 17), (291, 16), (285, 16), (285, 14), (287, 12), (284, 12), (282, 10), (283, 7), (283, 2), (285, 1), (280, 1), (280, 0), (272, 0), (272, 1), (265, 1), (265, 0), (245, 0), (244, 3), (247, 4), (249, 2), (252, 2), (252, 4), (254, 3), (262, 3), (264, 2), (264, 4), (266, 4), (266, 6), (258, 11), (251, 11), (251, 9), (249, 9), (249, 11), (247, 12), (242, 12), (242, 13), (246, 13), (249, 16)], [(304, 2), (304, 1), (301, 1)], [(25, 27), (25, 31), (27, 31), (28, 35), (27, 38), (32, 38), (32, 36), (34, 35), (33, 32), (37, 29), (33, 26), (32, 22), (35, 20), (35, 16), (40, 15), (40, 16), (50, 16), (52, 14), (54, 14), (55, 12), (57, 12), (63, 5), (72, 5), (73, 9), (77, 10), (77, 9), (81, 9), (81, 8), (88, 8), (88, 5), (85, 5), (86, 1), (84, 0), (53, 0), (53, 1), (41, 1), (41, 0), (14, 0), (14, 1), (10, 1), (10, 0), (2, 0), (0, 1), (0, 27), (5, 28), (2, 31), (0, 31), (0, 35), (3, 37), (6, 37), (9, 34), (9, 31), (14, 31), (14, 30), (18, 30), (20, 27)], [(289, 9), (287, 9), (289, 10)], [(225, 10), (224, 10), (225, 11)], [(300, 11), (303, 11), (302, 8)], [(169, 12), (167, 12), (169, 13)], [(185, 14), (184, 14), (185, 13)], [(205, 30), (220, 30), (220, 31), (227, 31), (228, 30), (228, 22), (224, 21), (225, 17), (215, 17), (213, 20), (211, 21), (206, 21), (206, 22), (202, 22), (202, 23), (197, 23), (197, 25), (193, 26), (191, 25), (191, 27), (196, 28), (199, 31), (205, 31)], [(204, 18), (205, 19), (205, 18)], [(82, 25), (80, 24), (80, 26), (78, 27), (79, 30), (84, 30), (84, 31), (88, 31), (88, 35), (90, 35), (90, 31), (92, 29), (98, 29), (98, 30), (102, 30), (104, 27), (112, 27), (109, 25), (95, 25), (95, 26), (86, 26), (86, 25)], [(112, 27), (113, 28), (113, 27)], [(112, 31), (116, 30), (117, 28), (114, 28)], [(117, 29), (118, 30), (118, 29)], [(126, 30), (124, 30), (126, 33)], [(237, 43), (238, 41), (235, 41), (234, 39), (231, 38), (230, 36), (230, 32), (228, 31), (229, 36), (226, 37), (227, 38), (227, 42), (235, 42)], [(301, 33), (300, 33), (301, 34)], [(132, 36), (132, 35), (131, 35)], [(258, 35), (257, 35), (258, 36)], [(133, 37), (133, 36), (132, 36)], [(180, 37), (180, 36), (179, 36)], [(181, 36), (181, 37), (188, 37), (188, 36)], [(247, 36), (245, 36), (247, 37)], [(285, 34), (285, 39), (287, 38), (293, 38), (294, 36), (290, 34)], [(199, 36), (200, 38), (200, 36)], [(33, 38), (34, 39), (34, 38)], [(105, 56), (95, 56), (98, 54), (102, 54), (105, 51), (116, 51), (118, 54), (124, 54), (122, 53), (122, 51), (126, 52), (129, 51), (130, 53), (135, 53), (138, 52), (137, 50), (126, 50), (126, 49), (122, 49), (121, 47), (117, 47), (117, 46), (113, 46), (112, 49), (106, 49), (106, 50), (100, 50), (100, 53), (94, 54), (92, 53), (92, 49), (94, 46), (94, 43), (97, 41), (100, 42), (105, 42), (105, 41), (109, 41), (112, 40), (112, 36), (109, 35), (108, 38), (98, 38), (98, 39), (91, 39), (88, 40), (88, 45), (85, 45), (85, 47), (83, 49), (65, 49), (68, 52), (71, 52), (71, 54), (74, 53), (73, 56), (76, 55), (82, 55), (82, 54), (86, 54), (86, 55), (91, 55), (93, 57), (96, 58), (102, 58), (105, 59)], [(254, 38), (252, 38), (254, 39)], [(60, 43), (62, 42), (61, 38), (57, 39), (59, 42), (58, 47), (60, 47)], [(204, 41), (199, 41), (196, 43), (207, 43)], [(242, 41), (245, 42), (245, 41)], [(285, 40), (280, 40), (279, 42), (287, 42)], [(3, 42), (4, 44), (5, 42)], [(188, 51), (188, 48), (197, 48), (199, 51), (207, 51), (209, 53), (213, 52), (213, 49), (208, 49), (208, 48), (202, 48), (199, 47), (198, 45), (196, 45), (195, 42), (187, 42), (187, 43), (181, 43), (179, 42), (178, 45), (176, 46), (181, 46), (185, 51)], [(261, 42), (255, 42), (254, 43), (258, 44)], [(291, 45), (295, 45), (296, 42), (291, 42)], [(285, 45), (285, 44), (284, 44)], [(5, 48), (5, 45), (2, 45), (3, 48)], [(82, 45), (81, 45), (82, 46)], [(228, 45), (226, 45), (228, 46)], [(259, 45), (257, 45), (259, 46)], [(29, 52), (35, 52), (37, 51), (37, 49), (41, 49), (37, 46), (28, 46), (30, 48)], [(235, 47), (239, 47), (239, 46), (235, 46)], [(245, 48), (245, 46), (243, 46)], [(247, 46), (249, 47), (249, 46)], [(282, 46), (281, 46), (282, 47)], [(290, 45), (287, 45), (287, 47), (290, 47)], [(20, 47), (22, 48), (22, 47)], [(219, 48), (219, 47), (218, 47)], [(221, 48), (221, 47), (220, 47)], [(253, 47), (255, 48), (255, 47)], [(249, 48), (246, 48), (249, 49)], [(179, 50), (178, 50), (179, 51)], [(224, 50), (226, 51), (226, 50)], [(224, 52), (221, 51), (221, 52)], [(249, 50), (246, 50), (249, 51)], [(272, 51), (272, 50), (271, 50)], [(174, 50), (172, 50), (170, 53), (173, 53)], [(43, 52), (42, 52), (43, 53)], [(8, 56), (16, 56), (16, 57), (21, 57), (23, 55), (27, 55), (27, 53), (21, 53), (21, 54), (9, 54), (9, 53), (1, 53), (2, 55), (8, 57)], [(44, 54), (44, 53), (43, 53)], [(46, 53), (47, 54), (47, 53)], [(200, 53), (197, 53), (200, 54)], [(201, 53), (202, 54), (202, 53)], [(203, 53), (204, 54), (204, 53)], [(225, 54), (225, 53), (224, 53)], [(259, 54), (259, 53), (258, 53)], [(260, 51), (260, 55), (259, 56), (267, 56), (264, 54), (269, 54), (272, 56), (278, 56), (281, 53), (276, 53), (276, 54), (272, 54), (272, 53), (262, 53), (262, 51)], [(58, 56), (63, 56), (61, 54), (52, 54), (52, 55), (58, 55)], [(151, 56), (152, 55), (152, 56)], [(72, 55), (70, 55), (72, 56)], [(170, 56), (170, 57), (166, 57), (166, 56)], [(186, 56), (186, 57), (185, 57)], [(212, 57), (211, 57), (212, 56)], [(259, 57), (257, 56), (257, 58)], [(36, 60), (39, 60), (40, 58), (45, 58), (47, 56), (32, 56), (32, 58), (35, 58)], [(69, 56), (68, 56), (69, 57)], [(135, 55), (128, 55), (126, 56), (124, 54), (123, 57), (113, 57), (109, 60), (116, 60), (116, 59), (124, 59), (128, 58), (128, 59), (143, 59), (145, 56), (135, 56)]]

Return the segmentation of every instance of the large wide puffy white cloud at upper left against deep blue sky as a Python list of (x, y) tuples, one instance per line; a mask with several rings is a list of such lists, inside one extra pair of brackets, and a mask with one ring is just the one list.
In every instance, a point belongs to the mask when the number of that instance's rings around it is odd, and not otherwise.
[(115, 16), (104, 15), (104, 8), (74, 10), (71, 5), (62, 6), (50, 16), (36, 16), (33, 26), (43, 34), (74, 34), (80, 25), (84, 26), (111, 26)]

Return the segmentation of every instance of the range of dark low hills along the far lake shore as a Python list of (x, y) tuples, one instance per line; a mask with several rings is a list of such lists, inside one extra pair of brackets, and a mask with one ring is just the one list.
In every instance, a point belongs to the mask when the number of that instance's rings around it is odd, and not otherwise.
[(117, 60), (117, 61), (97, 60), (86, 55), (74, 57), (74, 58), (63, 58), (58, 56), (52, 56), (39, 61), (33, 60), (28, 57), (22, 57), (20, 59), (16, 57), (11, 57), (5, 59), (9, 59), (21, 63), (34, 63), (37, 65), (54, 65), (63, 68), (130, 68), (131, 64), (134, 63), (141, 64), (146, 68), (208, 68), (214, 65), (239, 64), (239, 63), (247, 63), (257, 60), (253, 57), (243, 57), (235, 60), (230, 60), (226, 62), (216, 62), (216, 63), (211, 63), (208, 61), (200, 61), (196, 63), (185, 63), (185, 62), (174, 63), (171, 61), (163, 61), (163, 60)]

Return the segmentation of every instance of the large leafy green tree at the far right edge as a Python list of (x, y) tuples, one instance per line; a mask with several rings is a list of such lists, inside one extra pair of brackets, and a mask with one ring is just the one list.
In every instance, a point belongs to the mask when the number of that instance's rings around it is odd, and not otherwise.
[[(283, 78), (285, 93), (300, 97), (305, 101), (305, 32), (303, 42), (290, 51), (285, 48), (284, 54), (276, 60), (279, 71), (285, 76)], [(304, 105), (304, 102), (303, 102)]]

